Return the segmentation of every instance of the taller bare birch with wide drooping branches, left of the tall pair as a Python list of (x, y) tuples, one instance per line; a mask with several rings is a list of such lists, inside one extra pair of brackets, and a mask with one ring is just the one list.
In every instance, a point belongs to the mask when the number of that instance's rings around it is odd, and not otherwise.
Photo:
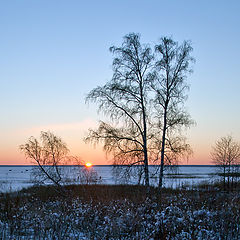
[(87, 139), (103, 141), (104, 149), (113, 153), (115, 163), (144, 164), (145, 184), (148, 173), (148, 105), (153, 56), (135, 33), (124, 37), (122, 46), (111, 47), (114, 55), (113, 77), (102, 87), (93, 89), (87, 101), (97, 102), (99, 111), (113, 124), (101, 122)]

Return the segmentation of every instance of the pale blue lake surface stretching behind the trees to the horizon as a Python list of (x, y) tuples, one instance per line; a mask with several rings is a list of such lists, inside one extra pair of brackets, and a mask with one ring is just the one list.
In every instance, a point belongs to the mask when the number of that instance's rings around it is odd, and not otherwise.
[[(0, 191), (16, 191), (25, 187), (34, 185), (32, 169), (34, 166), (0, 166)], [(80, 167), (82, 171), (85, 167)], [(139, 182), (139, 176), (141, 171), (139, 167), (132, 168), (133, 172), (127, 175), (121, 175), (122, 170), (113, 170), (112, 166), (93, 166), (91, 171), (97, 175), (97, 180), (101, 184), (137, 184)], [(64, 174), (69, 179), (70, 183), (76, 183), (79, 180), (79, 167), (76, 169), (74, 166), (64, 166)], [(128, 173), (129, 168), (125, 169)], [(157, 185), (158, 168), (156, 166), (150, 166), (150, 183), (151, 185)], [(132, 171), (132, 170), (131, 170)], [(126, 173), (125, 172), (125, 173)], [(165, 171), (164, 186), (166, 187), (181, 187), (183, 185), (192, 186), (201, 182), (211, 182), (216, 178), (215, 166), (178, 166), (174, 169), (167, 169)], [(126, 176), (126, 177), (124, 177)], [(143, 181), (143, 175), (140, 181)]]

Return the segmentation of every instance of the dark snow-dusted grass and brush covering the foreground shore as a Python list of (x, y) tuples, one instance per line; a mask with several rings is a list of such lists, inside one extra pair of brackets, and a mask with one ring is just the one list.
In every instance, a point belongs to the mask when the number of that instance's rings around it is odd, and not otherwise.
[(163, 189), (161, 198), (129, 185), (4, 193), (0, 239), (240, 239), (240, 192), (216, 189)]

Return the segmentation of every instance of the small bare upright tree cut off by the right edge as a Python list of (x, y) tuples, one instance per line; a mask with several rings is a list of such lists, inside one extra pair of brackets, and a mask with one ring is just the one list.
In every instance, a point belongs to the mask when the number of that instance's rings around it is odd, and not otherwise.
[(239, 170), (240, 164), (240, 144), (234, 141), (232, 136), (222, 137), (213, 146), (211, 158), (213, 163), (219, 166), (224, 190), (226, 190), (226, 178), (229, 189), (230, 181), (233, 184), (234, 177), (239, 174), (236, 170)]

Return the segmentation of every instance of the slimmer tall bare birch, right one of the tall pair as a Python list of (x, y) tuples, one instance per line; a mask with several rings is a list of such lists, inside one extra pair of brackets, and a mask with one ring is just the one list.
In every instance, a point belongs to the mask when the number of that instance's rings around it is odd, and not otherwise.
[[(186, 100), (187, 74), (191, 72), (192, 47), (187, 41), (180, 46), (171, 38), (163, 37), (155, 46), (156, 65), (151, 87), (156, 93), (155, 109), (158, 126), (161, 129), (161, 163), (159, 187), (162, 187), (163, 170), (171, 158), (189, 153), (189, 145), (176, 133), (182, 127), (189, 127), (193, 121), (184, 110)], [(169, 152), (170, 150), (170, 152)], [(167, 160), (167, 161), (166, 161)], [(172, 160), (170, 160), (172, 161)]]

